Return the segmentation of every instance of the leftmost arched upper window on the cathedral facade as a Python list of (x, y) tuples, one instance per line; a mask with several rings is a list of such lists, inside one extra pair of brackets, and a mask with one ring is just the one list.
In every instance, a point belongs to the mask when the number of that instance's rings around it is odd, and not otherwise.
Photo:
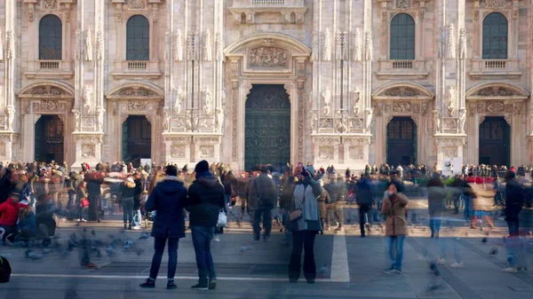
[(47, 14), (39, 22), (39, 60), (61, 60), (63, 25), (55, 14)]

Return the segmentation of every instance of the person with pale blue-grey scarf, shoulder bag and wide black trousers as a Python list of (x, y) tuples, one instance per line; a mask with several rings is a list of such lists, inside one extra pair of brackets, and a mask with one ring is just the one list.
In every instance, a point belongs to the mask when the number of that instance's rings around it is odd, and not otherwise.
[(299, 210), (301, 216), (291, 221), (292, 252), (289, 262), (289, 281), (298, 281), (302, 250), (305, 250), (304, 276), (307, 283), (314, 283), (316, 279), (314, 239), (316, 234), (322, 231), (317, 198), (322, 194), (322, 187), (314, 180), (314, 169), (311, 166), (307, 166), (306, 169), (298, 166), (295, 177), (298, 177), (298, 183), (294, 188), (290, 213)]

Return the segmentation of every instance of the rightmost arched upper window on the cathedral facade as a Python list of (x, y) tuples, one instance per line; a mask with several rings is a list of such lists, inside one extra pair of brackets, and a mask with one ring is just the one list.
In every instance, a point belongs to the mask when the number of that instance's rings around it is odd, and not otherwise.
[(507, 18), (491, 12), (483, 20), (483, 59), (507, 59)]

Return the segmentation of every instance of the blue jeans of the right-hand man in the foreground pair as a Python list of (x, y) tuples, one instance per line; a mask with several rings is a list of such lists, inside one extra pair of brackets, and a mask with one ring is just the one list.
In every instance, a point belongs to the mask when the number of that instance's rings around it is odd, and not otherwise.
[[(209, 280), (217, 279), (215, 264), (211, 256), (211, 240), (215, 234), (215, 227), (191, 225), (191, 235), (195, 246), (196, 267), (200, 284), (207, 284)], [(209, 280), (207, 279), (209, 275)]]

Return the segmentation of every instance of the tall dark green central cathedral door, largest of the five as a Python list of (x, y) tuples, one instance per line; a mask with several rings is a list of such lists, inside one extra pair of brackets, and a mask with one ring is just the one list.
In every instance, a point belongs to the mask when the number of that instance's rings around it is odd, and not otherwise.
[(290, 100), (283, 85), (253, 84), (245, 106), (244, 168), (290, 162)]

